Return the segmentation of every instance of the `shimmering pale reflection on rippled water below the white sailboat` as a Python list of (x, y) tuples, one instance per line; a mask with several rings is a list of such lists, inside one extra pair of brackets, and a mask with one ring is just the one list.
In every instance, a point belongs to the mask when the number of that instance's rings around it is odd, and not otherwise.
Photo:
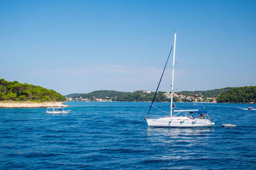
[[(211, 159), (214, 128), (154, 128), (148, 127), (148, 142), (152, 143), (154, 154), (148, 162), (168, 162), (179, 169), (193, 169), (191, 160)], [(168, 168), (167, 168), (168, 169)]]

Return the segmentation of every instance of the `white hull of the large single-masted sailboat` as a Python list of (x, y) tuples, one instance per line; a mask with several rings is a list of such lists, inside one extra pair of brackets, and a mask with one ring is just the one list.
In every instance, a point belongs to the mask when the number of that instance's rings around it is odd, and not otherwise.
[(212, 127), (209, 119), (188, 117), (147, 118), (148, 127)]

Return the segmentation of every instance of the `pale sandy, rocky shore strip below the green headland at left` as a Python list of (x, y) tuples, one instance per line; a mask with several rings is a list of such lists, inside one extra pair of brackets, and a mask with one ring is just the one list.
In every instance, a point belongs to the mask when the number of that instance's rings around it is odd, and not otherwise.
[(33, 102), (33, 101), (0, 101), (0, 108), (48, 108), (48, 107), (70, 107), (63, 102)]

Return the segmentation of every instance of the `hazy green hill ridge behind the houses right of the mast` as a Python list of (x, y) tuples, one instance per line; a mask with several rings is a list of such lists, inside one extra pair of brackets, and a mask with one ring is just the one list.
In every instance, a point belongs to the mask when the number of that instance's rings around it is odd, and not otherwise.
[(225, 87), (222, 89), (214, 89), (214, 90), (205, 90), (205, 91), (182, 91), (182, 93), (186, 94), (202, 94), (205, 97), (218, 97), (221, 92), (227, 92), (232, 89), (232, 87)]

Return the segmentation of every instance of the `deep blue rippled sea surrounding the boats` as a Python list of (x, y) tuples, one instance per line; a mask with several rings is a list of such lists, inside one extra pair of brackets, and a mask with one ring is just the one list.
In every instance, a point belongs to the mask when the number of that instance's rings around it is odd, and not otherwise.
[(0, 169), (256, 169), (256, 111), (237, 109), (248, 104), (204, 104), (215, 125), (199, 129), (148, 127), (150, 103), (67, 104), (62, 115), (1, 108)]

